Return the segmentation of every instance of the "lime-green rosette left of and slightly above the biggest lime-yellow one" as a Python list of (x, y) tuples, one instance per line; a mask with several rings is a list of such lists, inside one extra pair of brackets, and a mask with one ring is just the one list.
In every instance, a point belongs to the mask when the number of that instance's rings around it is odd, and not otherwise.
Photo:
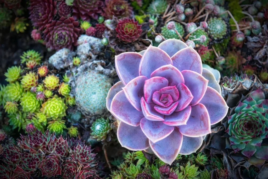
[(36, 94), (32, 92), (24, 93), (20, 99), (23, 112), (35, 112), (40, 109), (40, 103), (36, 99)]

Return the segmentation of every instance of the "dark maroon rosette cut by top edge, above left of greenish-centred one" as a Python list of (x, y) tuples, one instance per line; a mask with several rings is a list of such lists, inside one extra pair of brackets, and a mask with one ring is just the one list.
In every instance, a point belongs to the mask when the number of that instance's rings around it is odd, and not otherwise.
[(43, 30), (57, 14), (57, 2), (55, 0), (30, 0), (29, 14), (32, 25)]

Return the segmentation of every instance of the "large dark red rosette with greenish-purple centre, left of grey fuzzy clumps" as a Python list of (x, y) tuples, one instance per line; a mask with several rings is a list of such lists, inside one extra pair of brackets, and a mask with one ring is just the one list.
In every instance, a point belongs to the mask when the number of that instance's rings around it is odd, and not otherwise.
[(77, 44), (77, 38), (81, 32), (79, 22), (73, 17), (61, 17), (59, 20), (53, 20), (46, 25), (43, 31), (46, 47), (51, 50), (60, 50), (62, 48), (72, 49)]

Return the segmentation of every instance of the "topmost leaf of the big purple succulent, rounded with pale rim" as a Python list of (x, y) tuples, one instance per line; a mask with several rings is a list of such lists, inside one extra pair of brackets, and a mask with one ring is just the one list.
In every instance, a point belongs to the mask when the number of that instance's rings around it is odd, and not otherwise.
[(188, 47), (186, 43), (177, 39), (167, 39), (158, 45), (158, 48), (164, 50), (170, 57), (186, 47)]

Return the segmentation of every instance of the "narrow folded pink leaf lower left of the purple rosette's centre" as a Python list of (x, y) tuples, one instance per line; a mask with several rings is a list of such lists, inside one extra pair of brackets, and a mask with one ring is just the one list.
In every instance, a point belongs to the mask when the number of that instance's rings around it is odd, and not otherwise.
[(140, 100), (141, 106), (142, 106), (142, 112), (146, 119), (148, 120), (154, 120), (154, 121), (163, 121), (164, 115), (159, 114), (157, 111), (155, 111), (154, 103), (146, 103), (144, 97)]

